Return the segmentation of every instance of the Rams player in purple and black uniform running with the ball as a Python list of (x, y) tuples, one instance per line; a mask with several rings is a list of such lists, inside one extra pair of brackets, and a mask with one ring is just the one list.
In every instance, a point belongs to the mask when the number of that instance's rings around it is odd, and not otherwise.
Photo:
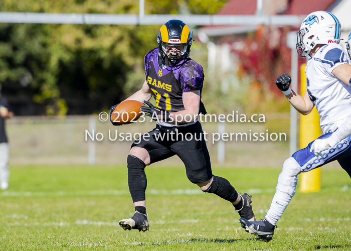
[[(144, 58), (146, 80), (142, 88), (126, 99), (144, 102), (147, 106), (141, 110), (157, 122), (148, 133), (150, 137), (140, 137), (132, 144), (127, 157), (128, 186), (135, 212), (131, 218), (120, 220), (120, 226), (124, 230), (149, 230), (144, 169), (174, 155), (183, 161), (192, 183), (231, 202), (241, 217), (254, 220), (251, 196), (241, 195), (228, 180), (212, 174), (205, 135), (197, 119), (199, 113), (206, 114), (201, 102), (204, 71), (189, 57), (193, 43), (189, 27), (180, 20), (170, 20), (160, 28), (157, 43), (158, 48)], [(148, 101), (152, 96), (155, 106)]]

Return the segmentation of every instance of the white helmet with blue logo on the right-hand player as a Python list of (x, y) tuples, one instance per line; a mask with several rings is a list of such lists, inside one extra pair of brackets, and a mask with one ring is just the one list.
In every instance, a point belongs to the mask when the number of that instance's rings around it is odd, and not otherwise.
[(341, 25), (329, 12), (312, 12), (303, 20), (297, 31), (296, 49), (300, 57), (310, 58), (309, 53), (317, 44), (340, 42)]

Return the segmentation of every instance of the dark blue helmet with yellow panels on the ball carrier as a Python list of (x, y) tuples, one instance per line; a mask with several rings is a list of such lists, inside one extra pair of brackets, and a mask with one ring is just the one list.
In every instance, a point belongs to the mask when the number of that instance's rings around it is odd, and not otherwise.
[[(159, 55), (164, 61), (175, 65), (183, 58), (189, 57), (190, 47), (193, 43), (192, 33), (189, 27), (181, 20), (169, 20), (159, 29), (157, 36), (157, 44), (159, 48)], [(166, 54), (165, 46), (184, 46), (181, 55), (177, 53)]]

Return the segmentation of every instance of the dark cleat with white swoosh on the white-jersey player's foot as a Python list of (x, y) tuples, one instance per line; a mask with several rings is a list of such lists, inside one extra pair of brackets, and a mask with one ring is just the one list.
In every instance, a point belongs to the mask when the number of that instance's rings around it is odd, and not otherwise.
[(272, 239), (274, 234), (274, 228), (277, 227), (277, 225), (275, 225), (272, 230), (269, 230), (266, 227), (266, 224), (264, 223), (265, 221), (265, 219), (259, 221), (249, 221), (244, 218), (239, 219), (239, 223), (241, 223), (241, 227), (244, 228), (245, 231), (251, 234), (255, 234), (262, 241), (268, 242)]

